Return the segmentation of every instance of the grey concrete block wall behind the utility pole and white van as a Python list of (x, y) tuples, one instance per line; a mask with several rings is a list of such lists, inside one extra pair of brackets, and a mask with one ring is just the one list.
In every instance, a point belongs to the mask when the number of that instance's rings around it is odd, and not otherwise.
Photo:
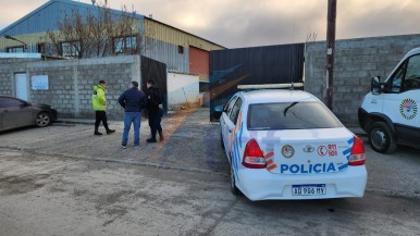
[[(334, 63), (333, 112), (347, 126), (358, 126), (357, 110), (370, 79), (385, 79), (400, 59), (420, 47), (420, 35), (337, 40)], [(325, 41), (309, 42), (305, 55), (305, 90), (323, 100)]]

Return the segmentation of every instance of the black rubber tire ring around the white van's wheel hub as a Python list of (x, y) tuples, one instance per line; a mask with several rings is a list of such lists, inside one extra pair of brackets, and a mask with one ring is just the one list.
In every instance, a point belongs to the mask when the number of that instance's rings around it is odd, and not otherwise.
[[(383, 147), (378, 147), (373, 144), (373, 135), (375, 132), (382, 132), (385, 138), (385, 144)], [(381, 153), (391, 153), (397, 149), (397, 142), (395, 140), (394, 134), (385, 122), (374, 122), (369, 132), (369, 142), (373, 150)]]

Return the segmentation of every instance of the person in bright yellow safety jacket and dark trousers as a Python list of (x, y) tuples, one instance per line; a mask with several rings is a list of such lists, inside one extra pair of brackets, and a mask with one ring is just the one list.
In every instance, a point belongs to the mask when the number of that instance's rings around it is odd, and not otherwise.
[(100, 122), (102, 122), (108, 135), (115, 132), (108, 127), (106, 88), (107, 83), (100, 80), (99, 85), (94, 86), (94, 94), (91, 95), (91, 103), (96, 114), (95, 135), (102, 135), (102, 133), (98, 131)]

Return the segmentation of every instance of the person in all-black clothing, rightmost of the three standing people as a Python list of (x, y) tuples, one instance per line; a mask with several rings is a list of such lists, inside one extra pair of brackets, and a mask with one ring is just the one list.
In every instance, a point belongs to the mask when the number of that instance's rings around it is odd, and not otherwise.
[(160, 125), (163, 107), (162, 107), (162, 96), (159, 91), (159, 88), (155, 87), (153, 80), (148, 80), (147, 84), (147, 109), (149, 114), (149, 126), (151, 138), (147, 139), (147, 142), (156, 142), (156, 133), (159, 132), (159, 139), (163, 141), (163, 132), (162, 126)]

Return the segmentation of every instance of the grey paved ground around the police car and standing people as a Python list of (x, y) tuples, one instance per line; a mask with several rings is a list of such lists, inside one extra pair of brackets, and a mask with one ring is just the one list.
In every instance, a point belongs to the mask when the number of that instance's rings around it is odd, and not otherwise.
[[(121, 148), (86, 124), (0, 133), (0, 236), (420, 235), (420, 151), (367, 145), (363, 198), (261, 201), (228, 189), (208, 109), (163, 119), (166, 140)], [(366, 139), (366, 138), (365, 138)]]

